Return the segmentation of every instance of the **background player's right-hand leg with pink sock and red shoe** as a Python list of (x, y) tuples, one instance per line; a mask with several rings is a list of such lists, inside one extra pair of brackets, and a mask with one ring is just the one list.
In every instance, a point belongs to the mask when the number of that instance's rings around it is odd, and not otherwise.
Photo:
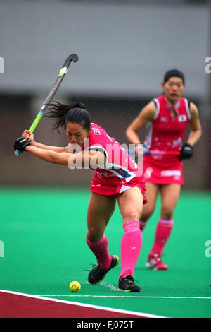
[(167, 270), (167, 265), (160, 260), (162, 251), (167, 244), (173, 225), (174, 208), (179, 199), (181, 186), (179, 184), (165, 184), (161, 187), (162, 207), (160, 220), (155, 232), (155, 242), (148, 257), (148, 268), (157, 270)]

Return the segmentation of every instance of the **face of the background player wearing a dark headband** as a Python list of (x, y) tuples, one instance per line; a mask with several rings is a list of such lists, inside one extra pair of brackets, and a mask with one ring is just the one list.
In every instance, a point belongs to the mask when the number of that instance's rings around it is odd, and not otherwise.
[(184, 84), (179, 77), (171, 77), (167, 82), (162, 83), (162, 88), (170, 102), (177, 102), (184, 92)]

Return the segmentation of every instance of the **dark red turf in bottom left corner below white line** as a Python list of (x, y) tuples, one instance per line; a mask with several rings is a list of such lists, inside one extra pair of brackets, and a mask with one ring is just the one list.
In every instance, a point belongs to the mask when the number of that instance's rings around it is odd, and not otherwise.
[(141, 318), (141, 316), (0, 291), (0, 318)]

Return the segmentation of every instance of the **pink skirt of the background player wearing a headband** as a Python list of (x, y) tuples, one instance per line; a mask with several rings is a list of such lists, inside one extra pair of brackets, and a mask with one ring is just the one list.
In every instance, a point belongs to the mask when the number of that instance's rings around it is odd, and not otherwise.
[(166, 163), (160, 165), (156, 162), (143, 162), (143, 177), (146, 182), (155, 184), (180, 184), (184, 185), (184, 175), (182, 162), (175, 162), (173, 164)]

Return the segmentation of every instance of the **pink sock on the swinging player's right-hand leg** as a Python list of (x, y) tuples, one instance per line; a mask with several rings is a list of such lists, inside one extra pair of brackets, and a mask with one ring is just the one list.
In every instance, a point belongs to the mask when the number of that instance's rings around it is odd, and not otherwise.
[(124, 223), (124, 235), (121, 242), (122, 268), (120, 278), (125, 275), (134, 275), (136, 262), (139, 258), (142, 245), (142, 233), (139, 221), (128, 221)]

